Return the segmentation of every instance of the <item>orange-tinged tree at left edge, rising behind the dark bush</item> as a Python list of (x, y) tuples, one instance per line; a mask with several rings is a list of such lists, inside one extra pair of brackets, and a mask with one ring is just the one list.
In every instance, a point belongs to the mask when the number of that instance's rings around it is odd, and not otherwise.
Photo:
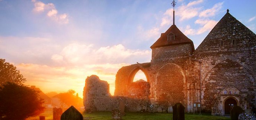
[(23, 85), (25, 81), (26, 79), (14, 65), (5, 62), (5, 59), (0, 58), (0, 86), (6, 82)]

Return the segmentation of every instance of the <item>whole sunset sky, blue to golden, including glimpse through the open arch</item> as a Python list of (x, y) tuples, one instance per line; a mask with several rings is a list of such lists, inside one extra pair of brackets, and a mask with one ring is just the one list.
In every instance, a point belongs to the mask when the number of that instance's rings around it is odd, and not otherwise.
[[(227, 9), (256, 33), (255, 6), (176, 0), (175, 25), (197, 48)], [(171, 0), (0, 0), (0, 58), (45, 93), (73, 89), (83, 97), (85, 79), (97, 75), (114, 95), (116, 72), (150, 62), (150, 46), (172, 24)]]

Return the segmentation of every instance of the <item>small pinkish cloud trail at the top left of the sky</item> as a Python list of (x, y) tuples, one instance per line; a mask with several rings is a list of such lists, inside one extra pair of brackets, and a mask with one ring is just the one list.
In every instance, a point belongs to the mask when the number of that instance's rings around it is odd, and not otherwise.
[(66, 13), (58, 14), (58, 10), (53, 3), (45, 4), (37, 0), (32, 0), (32, 2), (34, 3), (33, 11), (35, 11), (35, 13), (46, 13), (49, 18), (60, 24), (69, 23), (68, 15)]

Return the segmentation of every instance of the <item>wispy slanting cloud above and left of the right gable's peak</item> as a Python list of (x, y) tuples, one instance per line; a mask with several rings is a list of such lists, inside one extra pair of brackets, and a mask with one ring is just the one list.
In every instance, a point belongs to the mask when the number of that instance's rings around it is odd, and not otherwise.
[(216, 15), (217, 11), (220, 11), (224, 2), (216, 3), (210, 9), (204, 10), (199, 14), (199, 17), (213, 17)]

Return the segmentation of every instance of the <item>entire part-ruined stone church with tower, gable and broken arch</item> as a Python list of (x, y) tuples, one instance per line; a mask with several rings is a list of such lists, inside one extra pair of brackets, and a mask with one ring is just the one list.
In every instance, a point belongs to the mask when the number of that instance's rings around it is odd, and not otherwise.
[[(194, 49), (175, 24), (150, 47), (150, 62), (124, 66), (116, 73), (115, 93), (96, 75), (85, 81), (86, 112), (172, 112), (175, 103), (193, 113), (230, 114), (233, 106), (256, 106), (256, 35), (229, 11)], [(141, 70), (147, 80), (133, 82)], [(152, 110), (152, 111), (151, 111)]]

